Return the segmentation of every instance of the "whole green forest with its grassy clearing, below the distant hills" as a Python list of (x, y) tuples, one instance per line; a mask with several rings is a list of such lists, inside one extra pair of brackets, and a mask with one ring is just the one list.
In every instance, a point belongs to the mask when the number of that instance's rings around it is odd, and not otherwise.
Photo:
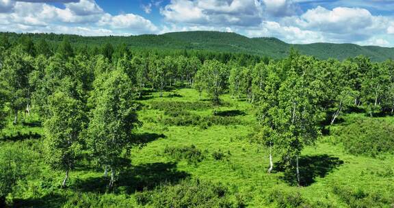
[(393, 60), (42, 36), (0, 35), (0, 207), (394, 207)]

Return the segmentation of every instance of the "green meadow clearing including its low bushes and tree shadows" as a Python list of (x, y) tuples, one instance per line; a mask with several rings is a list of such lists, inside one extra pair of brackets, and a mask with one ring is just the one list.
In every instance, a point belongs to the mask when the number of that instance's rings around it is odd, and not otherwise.
[(88, 153), (62, 189), (64, 172), (45, 163), (44, 130), (33, 107), (25, 122), (3, 129), (0, 147), (25, 151), (33, 161), (6, 200), (14, 207), (167, 207), (171, 200), (173, 207), (394, 207), (394, 156), (354, 155), (339, 138), (341, 129), (365, 114), (345, 114), (323, 127), (316, 144), (302, 151), (304, 183), (298, 186), (293, 169), (281, 168), (275, 153), (274, 170), (267, 173), (268, 149), (252, 140), (252, 105), (230, 94), (221, 99), (215, 107), (194, 89), (166, 91), (163, 97), (147, 90), (138, 101), (143, 124), (135, 132), (144, 144), (127, 155), (131, 166), (120, 170), (111, 192)]

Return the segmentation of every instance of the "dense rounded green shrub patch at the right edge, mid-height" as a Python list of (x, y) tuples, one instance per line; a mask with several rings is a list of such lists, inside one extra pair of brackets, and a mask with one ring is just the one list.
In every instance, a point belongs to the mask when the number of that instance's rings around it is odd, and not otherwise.
[(382, 119), (365, 118), (336, 132), (345, 150), (353, 155), (376, 157), (394, 153), (394, 124)]

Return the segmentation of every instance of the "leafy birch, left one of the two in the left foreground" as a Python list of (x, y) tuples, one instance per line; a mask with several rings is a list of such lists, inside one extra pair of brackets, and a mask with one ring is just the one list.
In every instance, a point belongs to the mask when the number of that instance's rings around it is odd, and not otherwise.
[[(86, 116), (81, 101), (56, 92), (49, 97), (49, 117), (44, 122), (46, 161), (55, 170), (73, 170), (81, 154), (81, 131), (86, 128)], [(64, 184), (66, 182), (64, 180)]]

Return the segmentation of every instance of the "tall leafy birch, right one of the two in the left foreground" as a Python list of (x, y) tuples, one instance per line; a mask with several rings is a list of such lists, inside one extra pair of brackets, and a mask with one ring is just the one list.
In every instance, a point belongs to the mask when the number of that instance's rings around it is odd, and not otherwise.
[(133, 130), (140, 122), (136, 114), (135, 89), (129, 77), (121, 70), (114, 70), (107, 79), (99, 80), (103, 81), (103, 88), (94, 92), (96, 105), (88, 127), (88, 144), (97, 164), (111, 170), (111, 189), (116, 172), (124, 166), (122, 153), (129, 153), (137, 143)]

